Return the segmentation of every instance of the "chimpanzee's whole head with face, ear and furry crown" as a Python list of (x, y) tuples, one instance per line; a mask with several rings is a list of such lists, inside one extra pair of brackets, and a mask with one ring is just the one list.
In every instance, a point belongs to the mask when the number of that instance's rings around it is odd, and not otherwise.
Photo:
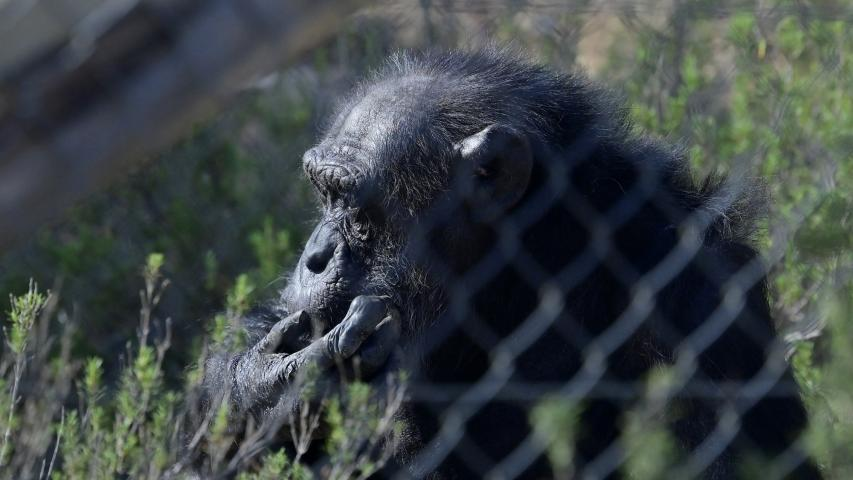
[(339, 108), (304, 155), (322, 209), (290, 311), (329, 325), (356, 295), (388, 295), (423, 326), (549, 181), (548, 158), (603, 128), (583, 80), (508, 58), (399, 56)]

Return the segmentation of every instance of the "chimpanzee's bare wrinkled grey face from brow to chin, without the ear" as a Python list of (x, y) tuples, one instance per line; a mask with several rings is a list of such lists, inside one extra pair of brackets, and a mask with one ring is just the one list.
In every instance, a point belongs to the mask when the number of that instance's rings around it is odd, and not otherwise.
[[(306, 310), (332, 325), (360, 294), (387, 294), (376, 279), (387, 277), (398, 257), (400, 219), (387, 186), (396, 159), (386, 139), (400, 135), (411, 115), (415, 85), (379, 85), (344, 107), (303, 167), (321, 203), (320, 219), (305, 245), (285, 292), (291, 311)], [(391, 222), (394, 218), (396, 221)], [(396, 227), (396, 228), (395, 228)], [(381, 253), (381, 256), (380, 256)]]

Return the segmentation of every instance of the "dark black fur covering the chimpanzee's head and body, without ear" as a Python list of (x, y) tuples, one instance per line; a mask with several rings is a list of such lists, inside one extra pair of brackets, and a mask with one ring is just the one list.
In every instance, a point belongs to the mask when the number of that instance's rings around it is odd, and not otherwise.
[[(483, 220), (453, 183), (454, 145), (495, 124), (528, 139), (534, 162), (520, 201)], [(369, 157), (368, 173), (330, 181), (314, 166), (327, 158), (360, 165), (340, 160), (352, 153), (341, 149), (348, 142)], [(708, 458), (705, 476), (736, 477), (748, 455), (784, 453), (792, 477), (819, 477), (792, 447), (806, 413), (749, 242), (756, 189), (697, 183), (682, 155), (632, 135), (625, 110), (584, 78), (499, 50), (399, 55), (341, 106), (323, 142), (306, 154), (306, 169), (332, 204), (350, 201), (347, 195), (368, 199), (381, 220), (369, 220), (376, 232), (363, 244), (340, 228), (359, 266), (341, 274), (352, 275), (347, 287), (300, 292), (303, 257), (275, 308), (306, 309), (334, 324), (355, 295), (393, 298), (413, 370), (400, 468), (481, 476), (530, 433), (537, 398), (524, 394), (568, 384), (575, 393), (588, 388), (578, 467), (605, 476), (610, 464), (596, 459), (616, 444), (633, 396), (607, 387), (638, 388), (650, 369), (678, 364), (690, 381), (670, 420), (685, 451), (712, 450), (702, 443), (715, 435), (720, 413), (742, 413), (741, 428)], [(346, 222), (332, 207), (324, 211), (324, 222)], [(259, 338), (277, 318), (247, 322)], [(542, 326), (529, 342), (526, 321)], [(494, 368), (495, 361), (505, 363)], [(738, 388), (756, 379), (751, 390)], [(454, 407), (463, 413), (461, 440), (435, 443), (447, 407), (466, 391), (460, 387), (474, 384), (494, 391), (482, 405)], [(448, 456), (423, 455), (427, 445)], [(549, 472), (539, 456), (512, 473)]]

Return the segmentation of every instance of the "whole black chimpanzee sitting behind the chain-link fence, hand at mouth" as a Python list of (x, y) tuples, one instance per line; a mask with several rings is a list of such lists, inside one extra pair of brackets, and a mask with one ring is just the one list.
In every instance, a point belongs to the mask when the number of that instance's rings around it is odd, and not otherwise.
[(687, 472), (820, 477), (750, 246), (759, 189), (695, 180), (584, 77), (501, 48), (398, 54), (303, 162), (320, 220), (248, 349), (207, 362), (235, 419), (293, 411), (300, 371), (358, 358), (365, 380), (409, 372), (390, 472), (547, 478), (529, 417), (557, 394), (582, 409), (577, 476), (617, 477), (623, 414), (671, 366)]

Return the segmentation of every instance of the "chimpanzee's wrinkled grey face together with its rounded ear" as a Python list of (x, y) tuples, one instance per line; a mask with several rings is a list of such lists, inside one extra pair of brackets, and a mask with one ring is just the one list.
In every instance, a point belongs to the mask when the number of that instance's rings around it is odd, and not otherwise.
[[(470, 261), (472, 242), (481, 243), (474, 226), (448, 205), (503, 212), (520, 198), (530, 175), (526, 139), (502, 125), (448, 139), (435, 124), (432, 88), (422, 77), (372, 86), (305, 153), (322, 208), (284, 293), (290, 311), (306, 310), (328, 326), (357, 295), (405, 304), (400, 296), (415, 294), (415, 283), (423, 287), (428, 264)], [(434, 219), (437, 209), (442, 221), (424, 230), (425, 215)], [(423, 254), (423, 236), (434, 244), (430, 255)]]

